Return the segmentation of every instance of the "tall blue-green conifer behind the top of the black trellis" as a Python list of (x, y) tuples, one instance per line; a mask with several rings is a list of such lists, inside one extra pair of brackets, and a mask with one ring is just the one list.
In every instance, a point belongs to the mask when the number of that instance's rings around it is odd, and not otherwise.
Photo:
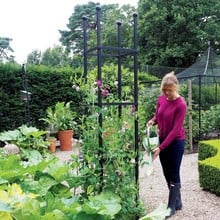
[[(89, 2), (84, 5), (76, 5), (74, 12), (69, 18), (67, 24), (68, 30), (60, 30), (60, 42), (69, 52), (73, 54), (82, 54), (83, 52), (83, 30), (82, 30), (82, 17), (87, 16), (88, 27), (88, 46), (93, 47), (96, 45), (96, 6), (98, 4)], [(123, 39), (126, 47), (132, 42), (131, 37), (131, 19), (128, 18), (134, 12), (134, 7), (124, 5), (119, 8), (118, 4), (109, 4), (101, 6), (101, 24), (102, 24), (102, 44), (117, 46), (117, 29), (116, 21), (120, 20), (123, 24)], [(129, 28), (129, 29), (127, 29)]]

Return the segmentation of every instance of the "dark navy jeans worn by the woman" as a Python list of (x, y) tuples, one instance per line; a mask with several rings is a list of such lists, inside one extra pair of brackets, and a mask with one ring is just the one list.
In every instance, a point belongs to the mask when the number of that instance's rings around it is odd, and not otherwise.
[[(161, 141), (161, 140), (160, 140)], [(184, 153), (185, 140), (174, 140), (160, 152), (160, 163), (168, 186), (171, 182), (181, 183), (180, 165)]]

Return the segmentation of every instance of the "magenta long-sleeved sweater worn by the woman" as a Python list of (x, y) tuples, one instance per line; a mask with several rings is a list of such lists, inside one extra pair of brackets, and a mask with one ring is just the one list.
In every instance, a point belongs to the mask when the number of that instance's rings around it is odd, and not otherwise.
[(186, 108), (186, 102), (181, 96), (176, 100), (167, 100), (165, 95), (158, 98), (154, 119), (158, 125), (159, 137), (163, 139), (161, 150), (168, 147), (173, 140), (185, 139), (183, 124)]

